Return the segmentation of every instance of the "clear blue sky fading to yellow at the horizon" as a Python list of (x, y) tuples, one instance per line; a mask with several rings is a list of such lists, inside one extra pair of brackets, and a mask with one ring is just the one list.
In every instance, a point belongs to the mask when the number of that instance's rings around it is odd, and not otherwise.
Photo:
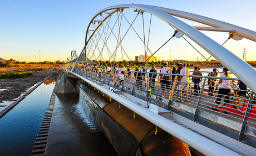
[[(0, 58), (16, 59), (18, 61), (65, 61), (71, 56), (71, 51), (76, 50), (78, 54), (85, 45), (85, 35), (87, 26), (97, 12), (109, 6), (117, 4), (149, 4), (160, 6), (189, 13), (203, 15), (205, 17), (218, 19), (223, 22), (238, 25), (256, 31), (256, 1), (227, 0), (227, 1), (21, 1), (21, 0), (1, 0), (0, 1)], [(125, 11), (126, 17), (133, 19), (132, 11)], [(132, 14), (132, 15), (129, 15)], [(114, 16), (113, 16), (114, 17)], [(149, 27), (149, 14), (145, 13), (145, 27)], [(137, 22), (137, 21), (136, 21)], [(140, 21), (141, 22), (141, 21)], [(184, 22), (187, 22), (184, 20)], [(162, 24), (163, 23), (163, 24)], [(195, 25), (196, 23), (188, 22)], [(139, 21), (135, 24), (138, 33), (141, 35), (142, 27)], [(139, 26), (138, 26), (139, 25)], [(125, 27), (124, 27), (125, 28)], [(126, 25), (127, 28), (127, 25)], [(147, 29), (148, 30), (148, 29)], [(150, 38), (150, 48), (154, 52), (166, 39), (173, 33), (173, 29), (168, 24), (157, 18), (152, 18), (152, 34)], [(155, 31), (155, 34), (154, 34)], [(125, 29), (124, 29), (125, 32)], [(205, 33), (205, 32), (204, 32)], [(127, 35), (124, 48), (130, 53), (131, 60), (135, 55), (144, 54), (142, 50), (135, 50), (138, 43), (133, 40), (133, 35)], [(166, 35), (166, 34), (169, 34)], [(223, 44), (228, 38), (228, 33), (209, 33), (210, 38)], [(173, 44), (176, 46), (174, 47)], [(132, 46), (131, 46), (132, 45)], [(242, 59), (242, 50), (248, 51), (247, 61), (256, 61), (256, 44), (254, 41), (243, 39), (235, 41), (230, 39), (225, 43), (225, 48), (232, 51)], [(133, 48), (133, 49), (132, 49)], [(141, 46), (140, 46), (141, 48)], [(198, 47), (196, 47), (198, 48)], [(40, 53), (39, 53), (40, 50)], [(166, 45), (159, 54), (162, 60), (203, 59), (188, 43), (184, 40), (174, 39), (172, 45)], [(210, 56), (203, 49), (198, 48), (205, 57)], [(121, 59), (120, 57), (117, 59)], [(127, 60), (127, 59), (126, 59)], [(203, 59), (204, 60), (204, 59)]]

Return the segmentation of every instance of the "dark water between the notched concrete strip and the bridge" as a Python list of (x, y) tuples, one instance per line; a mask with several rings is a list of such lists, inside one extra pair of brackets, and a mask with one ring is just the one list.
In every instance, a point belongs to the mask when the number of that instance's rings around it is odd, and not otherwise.
[(46, 154), (117, 155), (93, 118), (86, 98), (82, 91), (56, 93)]

